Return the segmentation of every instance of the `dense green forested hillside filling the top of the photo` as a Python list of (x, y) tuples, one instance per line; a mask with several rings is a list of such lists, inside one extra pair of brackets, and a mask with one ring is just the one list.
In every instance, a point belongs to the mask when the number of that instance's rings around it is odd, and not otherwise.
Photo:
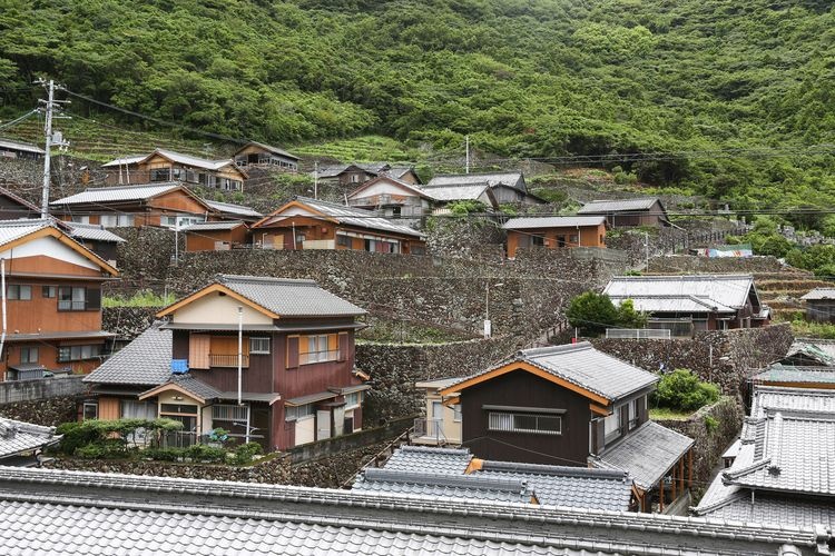
[[(2, 116), (31, 108), (41, 92), (31, 80), (48, 75), (234, 137), (380, 133), (444, 151), (469, 133), (507, 157), (675, 152), (619, 166), (735, 209), (831, 207), (831, 6), (3, 0)], [(701, 152), (715, 149), (782, 156)]]

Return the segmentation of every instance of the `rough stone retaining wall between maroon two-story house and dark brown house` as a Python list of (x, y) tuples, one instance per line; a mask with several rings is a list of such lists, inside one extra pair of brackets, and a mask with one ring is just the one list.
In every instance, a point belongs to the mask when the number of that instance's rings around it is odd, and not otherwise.
[(515, 338), (491, 338), (438, 345), (357, 344), (356, 367), (371, 375), (363, 420), (373, 425), (404, 415), (423, 414), (420, 380), (460, 377), (483, 370), (512, 355)]

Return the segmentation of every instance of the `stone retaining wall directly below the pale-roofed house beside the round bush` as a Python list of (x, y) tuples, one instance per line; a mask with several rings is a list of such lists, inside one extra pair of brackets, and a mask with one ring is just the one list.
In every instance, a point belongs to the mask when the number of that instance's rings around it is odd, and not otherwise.
[(596, 348), (658, 373), (686, 368), (699, 378), (718, 385), (724, 394), (741, 393), (746, 380), (758, 369), (784, 357), (794, 337), (787, 322), (763, 328), (698, 332), (695, 338), (610, 339), (595, 338)]

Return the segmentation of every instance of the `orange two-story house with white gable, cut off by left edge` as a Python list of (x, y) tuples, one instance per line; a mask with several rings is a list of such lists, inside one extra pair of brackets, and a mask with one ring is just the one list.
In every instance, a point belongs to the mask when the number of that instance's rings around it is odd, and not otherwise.
[(117, 270), (53, 220), (0, 221), (8, 322), (0, 376), (96, 368), (112, 334), (101, 330), (101, 285)]

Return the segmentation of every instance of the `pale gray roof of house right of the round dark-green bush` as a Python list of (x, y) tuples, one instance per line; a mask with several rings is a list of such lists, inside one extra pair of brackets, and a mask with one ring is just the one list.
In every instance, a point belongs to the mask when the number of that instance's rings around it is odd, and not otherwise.
[(703, 305), (700, 310), (708, 307), (736, 310), (745, 307), (752, 288), (750, 275), (618, 276), (609, 281), (603, 294), (616, 302), (632, 299), (639, 310), (669, 310), (655, 309), (654, 302), (666, 307), (664, 304), (678, 300), (687, 307)]

